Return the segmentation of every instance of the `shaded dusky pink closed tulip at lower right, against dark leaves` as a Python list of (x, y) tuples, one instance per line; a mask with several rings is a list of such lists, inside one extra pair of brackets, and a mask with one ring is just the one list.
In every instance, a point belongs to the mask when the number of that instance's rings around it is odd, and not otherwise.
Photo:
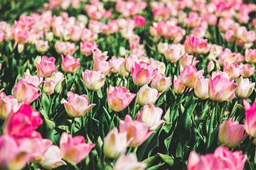
[(233, 119), (224, 120), (220, 125), (218, 139), (227, 147), (237, 147), (245, 140), (245, 127)]

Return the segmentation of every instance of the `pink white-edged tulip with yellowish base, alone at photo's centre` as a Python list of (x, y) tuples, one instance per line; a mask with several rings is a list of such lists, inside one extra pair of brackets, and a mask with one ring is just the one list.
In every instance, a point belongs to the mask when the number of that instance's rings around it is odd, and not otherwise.
[(130, 93), (123, 86), (111, 86), (107, 92), (107, 104), (113, 111), (123, 111), (132, 102), (136, 94)]

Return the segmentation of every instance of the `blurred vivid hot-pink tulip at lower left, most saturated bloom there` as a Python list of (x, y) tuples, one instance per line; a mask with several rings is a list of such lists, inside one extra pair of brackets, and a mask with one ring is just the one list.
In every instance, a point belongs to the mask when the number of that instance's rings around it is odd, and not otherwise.
[(4, 124), (4, 133), (14, 137), (34, 137), (37, 136), (35, 132), (43, 123), (41, 115), (38, 111), (23, 104), (18, 111), (13, 112), (6, 119)]

